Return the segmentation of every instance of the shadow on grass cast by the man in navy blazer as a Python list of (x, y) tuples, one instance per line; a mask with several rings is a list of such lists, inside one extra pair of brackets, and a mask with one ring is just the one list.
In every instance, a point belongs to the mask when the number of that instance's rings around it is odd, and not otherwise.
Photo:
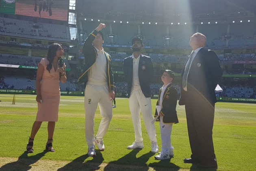
[(106, 167), (104, 168), (104, 171), (148, 171), (148, 166), (146, 165), (146, 162), (150, 157), (155, 154), (152, 152), (148, 152), (136, 158), (136, 155), (139, 153), (140, 150), (141, 149), (134, 149), (130, 153), (126, 154), (124, 157), (119, 158), (116, 161), (109, 162), (108, 165), (106, 165)]

